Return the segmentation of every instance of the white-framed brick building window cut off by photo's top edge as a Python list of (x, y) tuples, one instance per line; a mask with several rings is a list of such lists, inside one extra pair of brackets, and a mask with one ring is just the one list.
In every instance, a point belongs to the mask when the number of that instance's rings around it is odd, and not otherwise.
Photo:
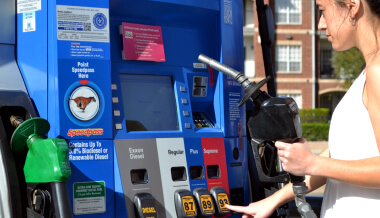
[(275, 3), (277, 24), (301, 24), (301, 0), (280, 0)]

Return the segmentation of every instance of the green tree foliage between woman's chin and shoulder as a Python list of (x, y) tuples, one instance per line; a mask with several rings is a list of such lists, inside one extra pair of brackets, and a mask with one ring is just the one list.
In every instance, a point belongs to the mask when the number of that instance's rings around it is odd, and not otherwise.
[(364, 57), (357, 48), (334, 52), (331, 59), (336, 77), (345, 80), (344, 88), (350, 87), (352, 82), (358, 77), (364, 62)]

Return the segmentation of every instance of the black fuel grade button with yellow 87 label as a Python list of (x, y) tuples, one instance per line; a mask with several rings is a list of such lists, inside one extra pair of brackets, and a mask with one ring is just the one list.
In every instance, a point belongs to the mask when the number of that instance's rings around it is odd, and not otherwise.
[(197, 207), (195, 205), (194, 197), (189, 190), (175, 191), (174, 202), (178, 218), (197, 216)]

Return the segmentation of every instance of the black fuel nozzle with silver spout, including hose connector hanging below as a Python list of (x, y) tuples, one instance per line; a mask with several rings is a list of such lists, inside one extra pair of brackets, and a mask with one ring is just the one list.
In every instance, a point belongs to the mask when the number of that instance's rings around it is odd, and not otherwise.
[[(270, 76), (258, 84), (250, 82), (241, 73), (219, 63), (205, 55), (199, 55), (198, 60), (207, 66), (218, 70), (239, 82), (245, 91), (243, 100), (239, 107), (250, 99), (255, 108), (248, 120), (248, 129), (251, 134), (251, 147), (255, 159), (259, 180), (263, 183), (293, 183), (293, 191), (296, 195), (295, 201), (301, 216), (316, 218), (311, 206), (306, 202), (305, 195), (308, 190), (304, 182), (305, 176), (295, 176), (281, 170), (281, 164), (277, 162), (277, 149), (275, 141), (294, 142), (302, 137), (302, 127), (299, 118), (298, 106), (293, 98), (271, 97), (260, 88), (270, 80)], [(269, 161), (262, 164), (262, 156), (268, 148)], [(266, 159), (266, 158), (265, 158)], [(276, 163), (277, 162), (277, 167)], [(279, 170), (280, 169), (280, 170)]]

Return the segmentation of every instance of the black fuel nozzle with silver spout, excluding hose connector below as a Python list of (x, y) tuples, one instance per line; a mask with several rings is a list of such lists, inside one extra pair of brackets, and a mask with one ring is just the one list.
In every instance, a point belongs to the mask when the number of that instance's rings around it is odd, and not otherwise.
[[(248, 120), (248, 130), (252, 137), (252, 147), (255, 154), (256, 166), (258, 169), (260, 180), (263, 182), (288, 182), (289, 179), (293, 182), (303, 182), (304, 177), (290, 175), (289, 177), (283, 174), (273, 174), (271, 169), (264, 172), (264, 166), (261, 166), (261, 155), (259, 154), (260, 146), (269, 144), (274, 147), (275, 141), (296, 140), (302, 137), (302, 126), (299, 118), (299, 110), (293, 98), (289, 97), (271, 97), (260, 88), (267, 83), (271, 77), (268, 76), (259, 83), (250, 82), (240, 72), (219, 63), (218, 61), (209, 58), (203, 54), (199, 55), (198, 60), (207, 66), (218, 70), (239, 82), (244, 88), (245, 95), (239, 103), (239, 107), (245, 104), (250, 99), (255, 105), (254, 111)], [(276, 149), (273, 158), (270, 162), (275, 162), (277, 154)], [(268, 168), (274, 169), (273, 163)], [(272, 166), (272, 167), (271, 167)]]

